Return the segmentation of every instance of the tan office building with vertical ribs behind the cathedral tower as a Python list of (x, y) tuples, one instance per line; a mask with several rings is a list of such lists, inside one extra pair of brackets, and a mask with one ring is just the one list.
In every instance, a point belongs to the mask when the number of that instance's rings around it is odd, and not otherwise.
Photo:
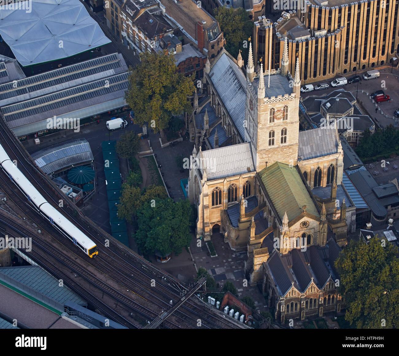
[[(338, 74), (392, 63), (399, 47), (397, 1), (306, 0), (304, 8), (286, 10), (273, 23), (271, 68), (279, 68), (288, 39), (290, 72), (298, 53), (301, 81), (316, 82)], [(296, 7), (296, 6), (294, 6)], [(266, 19), (254, 24), (255, 61), (268, 68), (269, 31)]]

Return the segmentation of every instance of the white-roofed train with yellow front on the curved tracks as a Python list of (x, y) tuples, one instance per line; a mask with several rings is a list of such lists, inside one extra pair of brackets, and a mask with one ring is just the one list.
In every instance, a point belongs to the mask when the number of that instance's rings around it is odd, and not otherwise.
[(55, 209), (39, 191), (22, 174), (18, 167), (8, 156), (6, 150), (0, 144), (0, 165), (18, 189), (26, 196), (33, 208), (44, 216), (63, 235), (68, 237), (75, 246), (79, 247), (90, 258), (98, 255), (97, 245), (73, 225), (65, 216)]

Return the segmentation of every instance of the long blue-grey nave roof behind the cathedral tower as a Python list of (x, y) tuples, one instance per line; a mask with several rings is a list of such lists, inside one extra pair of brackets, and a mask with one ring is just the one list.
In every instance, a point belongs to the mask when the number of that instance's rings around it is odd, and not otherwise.
[[(223, 51), (224, 48), (223, 48)], [(223, 52), (213, 63), (209, 72), (212, 84), (231, 119), (237, 128), (241, 139), (245, 138), (245, 102), (247, 99), (247, 82), (242, 70)]]

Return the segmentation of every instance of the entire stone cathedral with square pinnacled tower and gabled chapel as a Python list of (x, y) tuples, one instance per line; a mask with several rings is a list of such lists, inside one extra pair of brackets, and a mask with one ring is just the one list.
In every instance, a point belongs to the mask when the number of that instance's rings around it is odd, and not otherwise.
[(294, 77), (288, 68), (287, 43), (270, 73), (255, 69), (251, 43), (246, 67), (223, 48), (186, 113), (197, 238), (247, 251), (245, 274), (281, 323), (340, 311), (334, 260), (356, 225), (338, 132), (299, 131), (298, 59)]

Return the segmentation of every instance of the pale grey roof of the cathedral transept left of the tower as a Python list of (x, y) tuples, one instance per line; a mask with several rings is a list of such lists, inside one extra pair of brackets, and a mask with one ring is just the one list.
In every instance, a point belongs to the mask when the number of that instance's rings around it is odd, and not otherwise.
[(201, 173), (205, 169), (208, 180), (255, 171), (249, 142), (201, 151), (201, 155)]

